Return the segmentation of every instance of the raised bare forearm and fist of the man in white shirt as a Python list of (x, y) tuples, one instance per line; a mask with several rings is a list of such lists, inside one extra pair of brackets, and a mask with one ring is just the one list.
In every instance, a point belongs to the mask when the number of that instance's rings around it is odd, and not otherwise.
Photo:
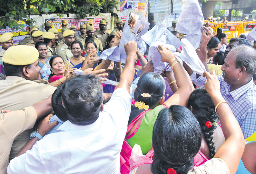
[(137, 43), (135, 41), (130, 41), (124, 44), (124, 49), (127, 55), (126, 64), (125, 64), (123, 73), (120, 76), (120, 82), (115, 87), (115, 90), (117, 88), (125, 88), (130, 94), (130, 87), (132, 85), (134, 72), (135, 72), (134, 58), (136, 57)]

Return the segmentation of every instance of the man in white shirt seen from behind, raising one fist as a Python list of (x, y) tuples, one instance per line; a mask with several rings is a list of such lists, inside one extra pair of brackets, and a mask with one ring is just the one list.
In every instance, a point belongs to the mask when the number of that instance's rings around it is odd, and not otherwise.
[[(118, 35), (120, 40), (121, 32)], [(93, 75), (64, 83), (63, 104), (69, 120), (58, 128), (60, 132), (40, 141), (32, 138), (19, 153), (24, 154), (10, 161), (7, 173), (120, 173), (137, 45), (130, 41), (124, 47), (126, 66), (109, 102), (103, 107), (102, 85)]]

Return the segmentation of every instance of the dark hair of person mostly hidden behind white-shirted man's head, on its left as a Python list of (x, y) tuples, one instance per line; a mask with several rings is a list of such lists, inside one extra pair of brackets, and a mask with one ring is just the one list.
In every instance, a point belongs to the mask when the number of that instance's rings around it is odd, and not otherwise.
[(62, 121), (67, 121), (67, 113), (62, 105), (62, 89), (63, 85), (59, 86), (53, 93), (52, 96), (52, 107), (55, 115)]

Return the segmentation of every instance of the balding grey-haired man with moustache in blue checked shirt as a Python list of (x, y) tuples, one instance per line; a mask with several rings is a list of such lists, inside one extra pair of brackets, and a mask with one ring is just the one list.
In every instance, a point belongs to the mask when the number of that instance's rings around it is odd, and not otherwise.
[[(217, 76), (221, 84), (222, 97), (234, 113), (244, 138), (256, 131), (256, 50), (248, 46), (232, 49), (224, 60), (222, 76)], [(199, 76), (196, 83), (202, 85), (206, 77)]]

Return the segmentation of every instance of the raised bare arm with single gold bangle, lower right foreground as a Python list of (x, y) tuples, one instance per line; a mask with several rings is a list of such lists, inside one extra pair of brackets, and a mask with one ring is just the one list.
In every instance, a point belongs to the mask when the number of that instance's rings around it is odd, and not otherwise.
[(226, 139), (213, 158), (223, 159), (228, 164), (231, 174), (235, 174), (245, 147), (244, 137), (228, 104), (223, 102), (225, 100), (220, 93), (220, 82), (215, 75), (215, 71), (210, 73), (204, 72), (207, 78), (204, 87), (212, 97), (214, 105), (218, 105), (215, 110), (219, 115), (222, 131)]

